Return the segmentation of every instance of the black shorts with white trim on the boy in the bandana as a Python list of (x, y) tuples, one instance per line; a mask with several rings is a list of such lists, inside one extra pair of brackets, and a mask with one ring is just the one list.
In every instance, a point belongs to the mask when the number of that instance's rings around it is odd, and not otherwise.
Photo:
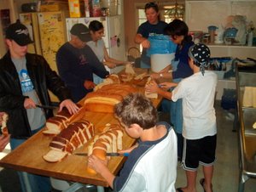
[(212, 166), (216, 157), (217, 135), (190, 140), (184, 138), (183, 145), (183, 169), (196, 171), (199, 164)]

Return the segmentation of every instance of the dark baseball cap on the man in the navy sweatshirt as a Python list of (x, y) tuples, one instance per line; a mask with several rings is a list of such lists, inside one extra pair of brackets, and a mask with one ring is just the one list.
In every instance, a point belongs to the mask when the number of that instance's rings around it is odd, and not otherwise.
[(70, 30), (70, 33), (73, 36), (79, 37), (79, 39), (82, 42), (89, 42), (91, 40), (90, 31), (89, 31), (88, 27), (84, 24), (77, 23), (77, 24), (73, 25), (73, 27)]

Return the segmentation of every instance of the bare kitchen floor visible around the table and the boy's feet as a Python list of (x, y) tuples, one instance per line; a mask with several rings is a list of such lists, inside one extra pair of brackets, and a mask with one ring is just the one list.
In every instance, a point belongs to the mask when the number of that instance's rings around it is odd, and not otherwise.
[[(237, 133), (232, 132), (233, 117), (226, 110), (222, 110), (219, 103), (216, 103), (216, 114), (218, 121), (218, 145), (217, 145), (217, 161), (214, 167), (213, 190), (215, 192), (236, 192), (238, 191), (238, 143)], [(161, 119), (168, 116), (161, 115)], [(197, 191), (202, 192), (203, 189), (199, 184), (202, 178), (201, 168), (198, 171)], [(182, 167), (177, 167), (177, 187), (183, 187), (186, 184), (185, 172)], [(0, 172), (0, 186), (3, 192), (19, 192), (19, 182), (13, 170), (3, 169)], [(110, 191), (105, 189), (106, 191)], [(91, 191), (91, 190), (90, 190)], [(245, 192), (256, 191), (256, 179), (249, 179), (245, 184)], [(156, 191), (157, 192), (157, 191)]]

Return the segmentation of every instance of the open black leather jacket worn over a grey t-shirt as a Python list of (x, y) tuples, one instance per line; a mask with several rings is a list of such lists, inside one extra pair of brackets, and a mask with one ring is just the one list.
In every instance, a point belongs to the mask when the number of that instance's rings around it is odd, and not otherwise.
[[(51, 104), (48, 89), (61, 101), (71, 94), (61, 78), (49, 68), (44, 57), (26, 54), (26, 68), (42, 104)], [(0, 59), (0, 111), (9, 115), (8, 130), (12, 138), (28, 138), (32, 135), (24, 108), (26, 96), (22, 95), (20, 79), (8, 52)], [(44, 110), (46, 118), (52, 110)]]

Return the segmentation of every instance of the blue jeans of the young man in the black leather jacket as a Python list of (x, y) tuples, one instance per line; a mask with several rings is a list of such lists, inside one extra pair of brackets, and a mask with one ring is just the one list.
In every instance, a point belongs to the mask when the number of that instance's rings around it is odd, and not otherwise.
[[(33, 131), (37, 133), (40, 129)], [(11, 150), (15, 150), (20, 144), (23, 144), (26, 139), (11, 138)], [(18, 172), (20, 178), (20, 186), (23, 192), (49, 192), (51, 185), (48, 177), (30, 174), (27, 172)]]

